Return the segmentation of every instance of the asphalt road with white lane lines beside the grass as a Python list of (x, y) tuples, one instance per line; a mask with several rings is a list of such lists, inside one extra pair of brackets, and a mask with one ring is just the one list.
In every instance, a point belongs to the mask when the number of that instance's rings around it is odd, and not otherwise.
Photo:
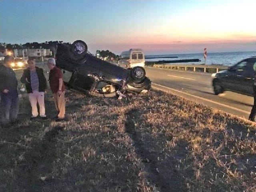
[(152, 86), (155, 88), (248, 119), (253, 97), (234, 92), (214, 95), (211, 74), (151, 67), (145, 69), (146, 76), (152, 80)]

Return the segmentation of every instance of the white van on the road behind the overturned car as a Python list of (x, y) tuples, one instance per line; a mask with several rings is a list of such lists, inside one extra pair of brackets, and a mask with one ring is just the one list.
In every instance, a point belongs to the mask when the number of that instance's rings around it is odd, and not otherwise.
[(145, 56), (142, 49), (130, 49), (122, 52), (118, 64), (125, 68), (144, 67)]

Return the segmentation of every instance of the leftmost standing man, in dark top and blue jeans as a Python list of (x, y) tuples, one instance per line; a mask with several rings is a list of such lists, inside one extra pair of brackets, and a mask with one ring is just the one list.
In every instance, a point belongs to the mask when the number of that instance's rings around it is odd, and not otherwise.
[(0, 65), (1, 124), (6, 127), (14, 123), (18, 115), (18, 81), (11, 68), (13, 56), (5, 56)]

